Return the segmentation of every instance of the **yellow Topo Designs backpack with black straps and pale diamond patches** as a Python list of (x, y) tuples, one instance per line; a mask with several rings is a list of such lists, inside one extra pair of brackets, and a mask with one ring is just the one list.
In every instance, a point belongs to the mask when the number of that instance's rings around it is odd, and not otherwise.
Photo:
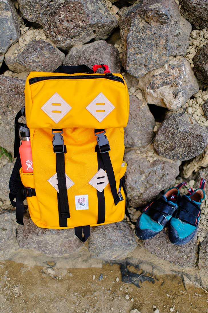
[[(17, 160), (10, 178), (17, 223), (23, 224), (26, 197), (38, 227), (75, 228), (83, 242), (90, 226), (123, 219), (128, 89), (122, 75), (111, 74), (106, 65), (104, 74), (94, 73), (99, 67), (60, 66), (54, 73), (28, 75), (25, 110), (15, 118)], [(33, 173), (22, 172), (21, 116), (30, 129)]]

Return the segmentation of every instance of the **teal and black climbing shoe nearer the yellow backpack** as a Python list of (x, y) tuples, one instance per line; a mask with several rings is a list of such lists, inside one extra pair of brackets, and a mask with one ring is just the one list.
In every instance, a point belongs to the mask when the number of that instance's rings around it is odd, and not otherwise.
[(177, 210), (179, 189), (186, 185), (182, 182), (176, 187), (168, 189), (159, 199), (149, 204), (140, 215), (135, 226), (135, 233), (139, 239), (149, 239), (157, 235)]

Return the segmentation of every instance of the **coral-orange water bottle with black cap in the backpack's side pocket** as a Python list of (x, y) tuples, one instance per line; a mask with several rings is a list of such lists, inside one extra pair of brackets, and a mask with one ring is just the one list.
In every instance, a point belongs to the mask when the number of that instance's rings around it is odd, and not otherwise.
[[(22, 124), (22, 123), (19, 123)], [(30, 130), (26, 124), (19, 127), (22, 144), (19, 148), (23, 173), (33, 173)]]

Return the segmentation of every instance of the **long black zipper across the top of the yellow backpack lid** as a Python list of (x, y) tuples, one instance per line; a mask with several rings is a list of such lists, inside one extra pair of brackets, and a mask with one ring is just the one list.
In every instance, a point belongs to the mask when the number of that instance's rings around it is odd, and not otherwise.
[(115, 76), (111, 73), (105, 75), (72, 75), (72, 76), (41, 76), (33, 77), (29, 79), (29, 84), (32, 85), (42, 80), (53, 80), (53, 79), (94, 79), (94, 78), (105, 78), (109, 80), (119, 81), (124, 84), (124, 81), (121, 77)]

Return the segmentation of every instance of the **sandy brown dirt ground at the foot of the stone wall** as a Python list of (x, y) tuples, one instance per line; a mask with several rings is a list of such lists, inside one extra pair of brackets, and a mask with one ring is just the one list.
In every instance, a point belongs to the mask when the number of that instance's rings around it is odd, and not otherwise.
[(122, 282), (117, 264), (101, 269), (56, 269), (53, 265), (31, 267), (1, 261), (0, 313), (208, 312), (208, 293), (184, 285), (177, 275), (154, 276), (138, 288)]

